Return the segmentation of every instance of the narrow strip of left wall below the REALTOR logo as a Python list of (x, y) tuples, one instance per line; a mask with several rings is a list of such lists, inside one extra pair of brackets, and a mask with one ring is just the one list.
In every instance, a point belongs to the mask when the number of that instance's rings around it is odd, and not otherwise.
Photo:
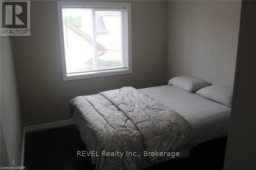
[(1, 37), (1, 165), (20, 165), (23, 123), (19, 110), (18, 92), (11, 38)]

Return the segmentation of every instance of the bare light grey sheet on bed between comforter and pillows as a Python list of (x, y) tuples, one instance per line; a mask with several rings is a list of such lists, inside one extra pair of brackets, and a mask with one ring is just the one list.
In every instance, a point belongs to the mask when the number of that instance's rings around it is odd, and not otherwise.
[(198, 144), (227, 135), (229, 107), (174, 86), (157, 86), (139, 90), (180, 113), (190, 124)]

